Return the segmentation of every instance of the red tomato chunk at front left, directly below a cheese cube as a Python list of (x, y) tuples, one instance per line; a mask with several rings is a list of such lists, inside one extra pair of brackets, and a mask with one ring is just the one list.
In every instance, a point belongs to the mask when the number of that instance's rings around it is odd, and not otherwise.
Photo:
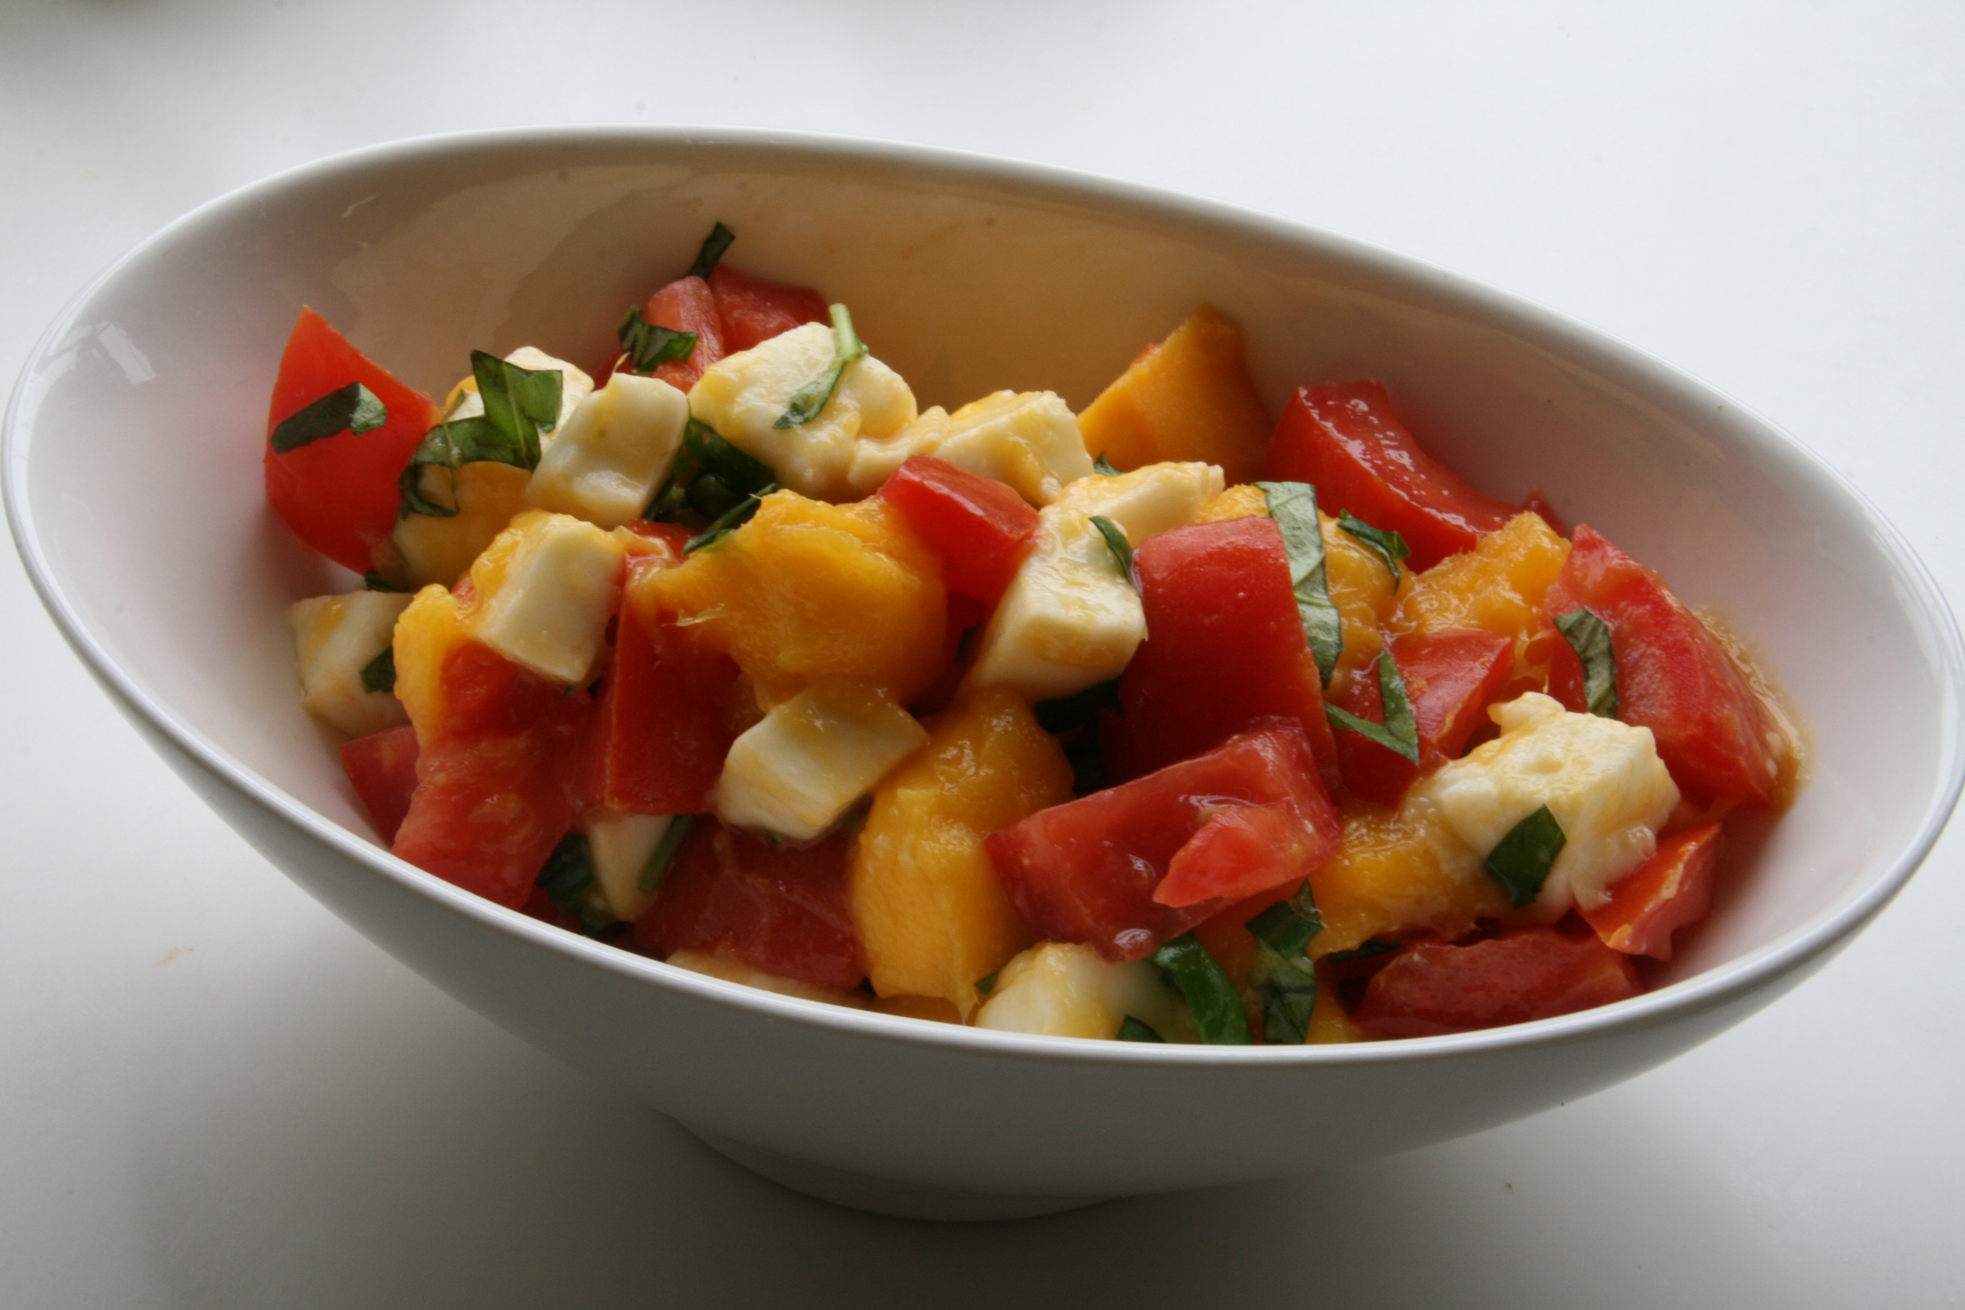
[(442, 666), (444, 721), (417, 756), (395, 854), (501, 905), (523, 905), (593, 797), (586, 691), (464, 642)]

